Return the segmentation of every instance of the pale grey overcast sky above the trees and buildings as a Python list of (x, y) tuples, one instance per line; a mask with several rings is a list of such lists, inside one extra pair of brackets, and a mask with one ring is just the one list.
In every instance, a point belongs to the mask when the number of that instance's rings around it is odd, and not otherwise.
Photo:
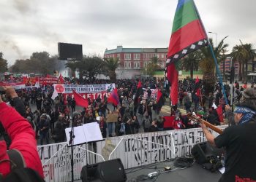
[[(0, 52), (9, 66), (33, 52), (58, 54), (58, 42), (83, 44), (83, 54), (105, 48), (167, 47), (178, 0), (1, 0)], [(206, 31), (256, 48), (255, 0), (195, 0)], [(209, 33), (214, 39), (215, 34)]]

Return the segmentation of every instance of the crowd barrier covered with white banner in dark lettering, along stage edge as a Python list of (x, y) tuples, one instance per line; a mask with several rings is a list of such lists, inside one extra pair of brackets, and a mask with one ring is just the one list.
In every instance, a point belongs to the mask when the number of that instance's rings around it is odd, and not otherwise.
[[(222, 130), (225, 127), (227, 126), (219, 126)], [(218, 135), (212, 130), (210, 132)], [(94, 164), (120, 158), (124, 168), (128, 169), (187, 156), (191, 154), (191, 149), (196, 143), (203, 141), (206, 141), (206, 138), (201, 128), (124, 135), (87, 144), (87, 159), (88, 164)], [(86, 165), (85, 145), (74, 147), (75, 180), (80, 179), (80, 171)], [(45, 181), (70, 181), (71, 151), (67, 143), (37, 146), (37, 149), (42, 160)]]

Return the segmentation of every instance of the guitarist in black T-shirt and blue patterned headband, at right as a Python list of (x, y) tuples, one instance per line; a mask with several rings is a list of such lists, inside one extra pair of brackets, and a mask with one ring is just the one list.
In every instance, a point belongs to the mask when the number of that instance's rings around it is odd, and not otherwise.
[(242, 102), (234, 110), (237, 125), (227, 127), (216, 138), (202, 122), (207, 140), (225, 147), (225, 173), (219, 181), (256, 181), (256, 90), (245, 90)]

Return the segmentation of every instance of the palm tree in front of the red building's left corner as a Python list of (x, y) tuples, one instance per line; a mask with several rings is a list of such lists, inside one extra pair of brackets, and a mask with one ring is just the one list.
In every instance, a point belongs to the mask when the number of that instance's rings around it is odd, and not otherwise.
[(116, 68), (119, 65), (118, 58), (105, 58), (105, 66), (107, 68), (108, 76), (110, 80), (116, 82)]

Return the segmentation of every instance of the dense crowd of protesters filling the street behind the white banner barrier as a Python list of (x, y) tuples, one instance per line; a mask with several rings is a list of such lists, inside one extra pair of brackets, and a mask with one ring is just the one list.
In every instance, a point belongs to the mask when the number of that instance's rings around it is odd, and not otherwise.
[[(73, 84), (105, 84), (110, 81), (96, 79), (94, 82), (86, 82), (72, 79), (68, 82)], [(143, 95), (138, 95), (138, 79), (116, 81), (119, 96), (118, 106), (108, 103), (108, 98), (104, 96), (96, 99), (88, 98), (89, 106), (78, 108), (75, 99), (71, 95), (64, 98), (64, 95), (59, 94), (53, 100), (51, 98), (53, 87), (50, 85), (29, 90), (17, 90), (17, 93), (26, 107), (26, 112), (22, 113), (22, 116), (31, 123), (41, 145), (48, 144), (50, 141), (55, 143), (65, 141), (64, 129), (70, 127), (72, 122), (73, 126), (98, 122), (103, 138), (112, 137), (113, 135), (165, 130), (165, 117), (159, 113), (157, 100), (151, 99), (151, 89), (162, 90), (165, 98), (169, 96), (168, 89), (165, 88), (165, 82), (157, 79), (141, 79), (140, 82), (146, 90), (146, 99), (143, 98)], [(184, 79), (179, 82), (178, 106), (170, 108), (179, 124), (178, 127), (167, 128), (167, 130), (198, 127), (197, 124), (191, 124), (186, 116), (181, 116), (179, 109), (195, 112), (214, 125), (219, 125), (222, 121), (219, 120), (219, 114), (213, 108), (213, 104), (223, 106), (224, 110), (230, 110), (230, 108), (225, 108), (219, 84), (216, 84), (214, 92), (210, 92), (208, 95), (205, 94), (204, 84), (201, 80), (200, 95), (197, 95), (195, 87), (195, 79)], [(230, 92), (228, 92), (230, 88), (228, 85), (225, 85), (225, 87), (227, 88), (227, 97), (230, 98)], [(241, 98), (243, 90), (244, 87), (239, 87), (236, 83), (234, 87), (236, 100)], [(8, 101), (5, 95), (2, 95), (2, 98)], [(167, 104), (170, 105), (170, 103)], [(228, 112), (226, 115), (228, 116)], [(233, 120), (230, 119), (230, 121)]]

